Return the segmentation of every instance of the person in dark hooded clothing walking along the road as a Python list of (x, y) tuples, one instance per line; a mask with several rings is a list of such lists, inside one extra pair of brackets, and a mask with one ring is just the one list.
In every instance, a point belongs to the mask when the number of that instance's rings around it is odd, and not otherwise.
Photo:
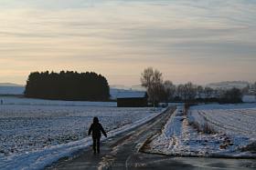
[(88, 135), (91, 135), (92, 132), (92, 140), (93, 140), (93, 153), (100, 154), (100, 142), (101, 142), (101, 133), (107, 137), (105, 130), (103, 129), (102, 125), (99, 123), (98, 117), (93, 118), (93, 123), (90, 126), (88, 131)]

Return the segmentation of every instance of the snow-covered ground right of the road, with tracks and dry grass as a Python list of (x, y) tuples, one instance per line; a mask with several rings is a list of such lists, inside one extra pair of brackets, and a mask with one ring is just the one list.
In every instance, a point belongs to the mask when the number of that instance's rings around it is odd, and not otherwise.
[(256, 104), (178, 107), (148, 152), (165, 155), (256, 157)]

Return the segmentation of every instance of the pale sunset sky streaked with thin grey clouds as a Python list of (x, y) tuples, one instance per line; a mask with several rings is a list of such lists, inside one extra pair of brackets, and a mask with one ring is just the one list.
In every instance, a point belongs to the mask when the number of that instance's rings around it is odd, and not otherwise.
[(35, 71), (93, 71), (139, 85), (256, 81), (254, 0), (0, 0), (0, 83)]

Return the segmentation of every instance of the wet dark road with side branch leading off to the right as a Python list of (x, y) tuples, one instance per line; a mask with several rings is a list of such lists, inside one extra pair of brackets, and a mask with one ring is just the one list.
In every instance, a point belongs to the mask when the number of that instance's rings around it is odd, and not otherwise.
[(101, 154), (93, 155), (87, 148), (80, 154), (63, 158), (58, 163), (46, 169), (255, 169), (255, 159), (223, 159), (176, 157), (151, 155), (139, 152), (144, 141), (161, 132), (166, 120), (173, 114), (175, 108), (169, 108), (165, 113), (156, 116), (148, 123), (116, 135), (101, 144)]

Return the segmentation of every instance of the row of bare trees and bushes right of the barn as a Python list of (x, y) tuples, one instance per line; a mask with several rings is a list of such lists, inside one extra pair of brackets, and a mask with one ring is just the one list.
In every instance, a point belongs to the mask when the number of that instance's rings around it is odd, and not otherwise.
[(144, 69), (141, 83), (146, 88), (149, 101), (153, 105), (160, 102), (242, 102), (242, 91), (238, 88), (213, 89), (194, 85), (191, 82), (174, 85), (170, 80), (164, 81), (163, 74), (152, 67)]

